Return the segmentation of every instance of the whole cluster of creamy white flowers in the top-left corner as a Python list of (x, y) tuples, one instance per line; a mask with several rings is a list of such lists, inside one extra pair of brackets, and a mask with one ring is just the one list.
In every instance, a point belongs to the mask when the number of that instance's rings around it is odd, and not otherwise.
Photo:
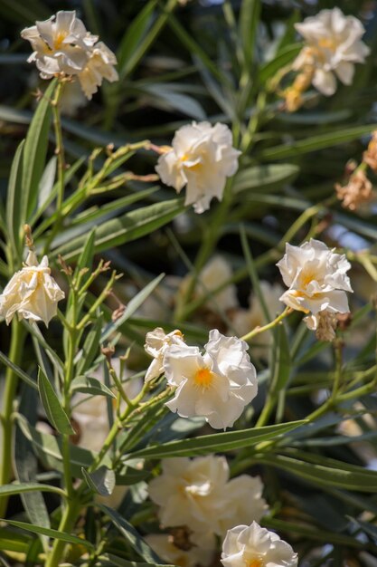
[(42, 79), (61, 74), (77, 76), (88, 99), (104, 78), (109, 82), (118, 80), (115, 54), (98, 41), (97, 35), (87, 32), (74, 11), (61, 11), (48, 20), (36, 22), (25, 28), (21, 36), (33, 47), (28, 62), (35, 62)]

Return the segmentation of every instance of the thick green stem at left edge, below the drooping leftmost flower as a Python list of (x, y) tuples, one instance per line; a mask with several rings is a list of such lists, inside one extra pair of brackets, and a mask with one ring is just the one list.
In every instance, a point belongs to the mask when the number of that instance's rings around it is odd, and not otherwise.
[[(17, 321), (16, 317), (12, 322), (12, 338), (9, 351), (9, 359), (14, 364), (19, 364), (23, 355), (24, 344), (24, 327)], [(18, 376), (10, 368), (6, 369), (5, 374), (5, 391), (4, 391), (4, 406), (1, 423), (3, 425), (3, 447), (0, 460), (0, 486), (7, 485), (12, 475), (12, 440), (13, 440), (13, 406), (14, 397), (17, 391)], [(8, 497), (3, 496), (0, 498), (0, 517), (4, 518), (6, 507), (8, 504)]]

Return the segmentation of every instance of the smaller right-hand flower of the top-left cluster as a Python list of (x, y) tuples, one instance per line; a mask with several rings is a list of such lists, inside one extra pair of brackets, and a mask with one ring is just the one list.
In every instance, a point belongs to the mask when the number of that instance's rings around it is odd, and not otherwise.
[(79, 73), (81, 89), (89, 100), (98, 91), (103, 79), (118, 81), (118, 72), (114, 69), (116, 64), (117, 57), (105, 43), (96, 43), (87, 64)]

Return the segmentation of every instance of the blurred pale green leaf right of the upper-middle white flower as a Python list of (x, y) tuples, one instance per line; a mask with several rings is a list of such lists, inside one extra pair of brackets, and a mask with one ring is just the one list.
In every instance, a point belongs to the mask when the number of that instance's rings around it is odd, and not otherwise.
[(234, 193), (253, 189), (260, 189), (260, 192), (277, 190), (297, 178), (298, 173), (298, 166), (290, 163), (253, 166), (236, 175), (232, 189)]

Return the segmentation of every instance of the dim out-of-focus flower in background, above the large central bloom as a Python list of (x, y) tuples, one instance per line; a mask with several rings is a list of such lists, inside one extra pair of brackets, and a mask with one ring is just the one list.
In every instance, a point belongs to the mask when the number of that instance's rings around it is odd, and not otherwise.
[[(237, 307), (237, 289), (233, 283), (229, 283), (219, 292), (214, 292), (222, 283), (228, 282), (231, 276), (231, 264), (221, 255), (213, 256), (213, 258), (204, 265), (202, 272), (198, 276), (194, 290), (195, 296), (199, 298), (207, 293), (213, 293), (213, 299), (210, 297), (207, 302), (204, 303), (205, 307), (211, 311), (213, 311), (213, 307), (216, 305), (218, 305), (222, 311)], [(191, 281), (191, 277), (191, 275), (184, 277), (181, 283), (181, 293), (184, 293), (185, 288)]]

